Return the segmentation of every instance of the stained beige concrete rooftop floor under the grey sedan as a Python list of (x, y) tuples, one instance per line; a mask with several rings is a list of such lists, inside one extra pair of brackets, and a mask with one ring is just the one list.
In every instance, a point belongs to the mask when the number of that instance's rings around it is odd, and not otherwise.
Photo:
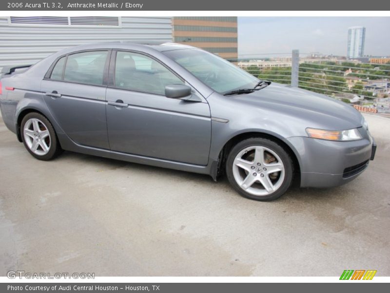
[(71, 152), (34, 159), (0, 123), (0, 275), (390, 275), (390, 120), (356, 180), (244, 199), (224, 179)]

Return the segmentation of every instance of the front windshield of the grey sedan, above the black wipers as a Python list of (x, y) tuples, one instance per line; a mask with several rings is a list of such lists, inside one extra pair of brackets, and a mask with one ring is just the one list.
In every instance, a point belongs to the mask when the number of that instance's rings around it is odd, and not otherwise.
[(196, 78), (221, 94), (236, 89), (254, 88), (257, 78), (214, 54), (197, 49), (164, 52)]

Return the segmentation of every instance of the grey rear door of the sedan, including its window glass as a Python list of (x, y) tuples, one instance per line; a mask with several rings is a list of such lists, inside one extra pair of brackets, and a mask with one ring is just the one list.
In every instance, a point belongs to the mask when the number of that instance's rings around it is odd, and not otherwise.
[(109, 149), (105, 77), (110, 53), (97, 50), (64, 56), (42, 81), (53, 117), (79, 145)]

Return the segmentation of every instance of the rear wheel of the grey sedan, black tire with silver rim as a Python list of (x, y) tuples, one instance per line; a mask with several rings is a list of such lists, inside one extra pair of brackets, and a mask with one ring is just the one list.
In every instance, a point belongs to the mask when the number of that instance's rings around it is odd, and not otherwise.
[(50, 121), (37, 112), (28, 113), (23, 117), (20, 133), (23, 145), (38, 160), (49, 161), (62, 152)]

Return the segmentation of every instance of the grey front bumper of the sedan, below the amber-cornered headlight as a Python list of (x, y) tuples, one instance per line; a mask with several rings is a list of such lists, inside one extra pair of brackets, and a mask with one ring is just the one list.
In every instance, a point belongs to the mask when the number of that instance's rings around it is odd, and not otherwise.
[(327, 188), (343, 185), (359, 176), (375, 156), (370, 136), (358, 141), (335, 142), (291, 137), (301, 169), (301, 187)]

